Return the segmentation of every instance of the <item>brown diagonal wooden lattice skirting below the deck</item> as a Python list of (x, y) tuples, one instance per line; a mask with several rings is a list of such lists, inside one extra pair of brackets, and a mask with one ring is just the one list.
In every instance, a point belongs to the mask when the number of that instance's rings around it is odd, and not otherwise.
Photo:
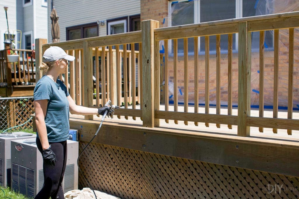
[(298, 177), (103, 144), (91, 143), (79, 166), (93, 189), (120, 198), (299, 198)]

